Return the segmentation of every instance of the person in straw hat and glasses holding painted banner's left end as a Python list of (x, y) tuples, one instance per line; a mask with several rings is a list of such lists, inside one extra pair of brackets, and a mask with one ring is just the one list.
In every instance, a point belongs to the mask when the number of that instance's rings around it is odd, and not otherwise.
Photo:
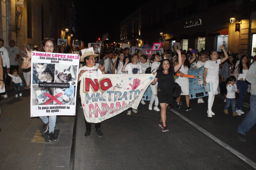
[[(98, 67), (95, 66), (95, 57), (97, 57), (98, 54), (93, 54), (92, 51), (86, 51), (80, 58), (81, 62), (84, 62), (84, 66), (79, 68), (79, 74), (78, 74), (78, 89), (80, 89), (80, 81), (81, 81), (81, 76), (83, 73), (97, 73), (97, 74), (106, 74), (105, 68), (102, 65), (99, 65)], [(80, 93), (80, 90), (79, 90)], [(79, 102), (82, 106), (81, 103), (81, 98), (79, 94)], [(84, 134), (85, 137), (89, 137), (91, 134), (91, 123), (87, 122), (85, 119), (85, 126), (86, 126), (86, 132)], [(101, 138), (103, 136), (101, 132), (101, 123), (95, 123), (95, 132)]]

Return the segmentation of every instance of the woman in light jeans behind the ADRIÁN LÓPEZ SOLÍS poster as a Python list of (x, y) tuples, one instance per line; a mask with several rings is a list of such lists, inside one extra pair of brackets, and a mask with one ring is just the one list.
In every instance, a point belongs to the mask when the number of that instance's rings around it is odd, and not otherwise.
[[(23, 63), (21, 65), (22, 69), (28, 69), (31, 67), (31, 50), (27, 51), (27, 57), (23, 58)], [(42, 41), (42, 44), (38, 51), (47, 52), (47, 53), (55, 53), (56, 52), (56, 44), (54, 42), (54, 39), (52, 38), (45, 38)], [(56, 142), (57, 139), (54, 136), (54, 128), (56, 125), (56, 115), (55, 116), (49, 116), (49, 119), (47, 116), (40, 116), (40, 119), (43, 121), (43, 126), (41, 128), (41, 132), (45, 133), (48, 131), (49, 127), (49, 142)]]

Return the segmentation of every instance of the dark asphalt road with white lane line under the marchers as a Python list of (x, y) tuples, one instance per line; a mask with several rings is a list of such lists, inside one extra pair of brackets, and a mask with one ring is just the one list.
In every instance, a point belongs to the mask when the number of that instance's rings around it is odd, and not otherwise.
[[(181, 101), (185, 104), (184, 96)], [(138, 113), (128, 116), (124, 112), (103, 121), (102, 138), (94, 131), (84, 137), (79, 108), (74, 169), (254, 169), (256, 127), (246, 134), (247, 142), (241, 142), (237, 127), (245, 115), (233, 117), (231, 107), (225, 115), (225, 103), (218, 95), (212, 109), (216, 115), (208, 118), (207, 97), (204, 101), (191, 100), (193, 110), (188, 112), (185, 105), (167, 110), (169, 132), (162, 132), (160, 112), (149, 111), (146, 101)]]

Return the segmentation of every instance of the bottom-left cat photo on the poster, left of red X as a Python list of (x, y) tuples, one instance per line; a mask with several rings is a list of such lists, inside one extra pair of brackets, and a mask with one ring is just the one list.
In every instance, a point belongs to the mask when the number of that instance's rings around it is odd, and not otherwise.
[[(39, 88), (38, 85), (32, 86), (32, 105), (44, 105), (47, 100), (49, 100), (49, 96), (47, 94), (53, 96), (53, 88)], [(53, 104), (53, 101), (49, 104)], [(48, 105), (49, 105), (48, 104)]]

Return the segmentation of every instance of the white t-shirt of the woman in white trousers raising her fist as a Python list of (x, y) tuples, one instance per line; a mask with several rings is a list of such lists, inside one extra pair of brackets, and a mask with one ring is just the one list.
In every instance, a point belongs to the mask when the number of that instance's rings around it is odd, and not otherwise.
[(204, 67), (208, 68), (207, 70), (207, 78), (211, 78), (212, 80), (216, 80), (219, 78), (219, 65), (221, 64), (221, 59), (217, 59), (216, 61), (206, 61)]

